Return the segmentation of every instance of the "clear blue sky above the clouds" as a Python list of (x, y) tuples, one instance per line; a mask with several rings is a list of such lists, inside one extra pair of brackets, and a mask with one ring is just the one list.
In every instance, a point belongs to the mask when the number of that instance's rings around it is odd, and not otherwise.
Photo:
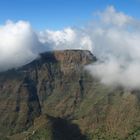
[(10, 19), (27, 20), (39, 30), (80, 26), (109, 5), (140, 18), (140, 0), (0, 0), (0, 24)]

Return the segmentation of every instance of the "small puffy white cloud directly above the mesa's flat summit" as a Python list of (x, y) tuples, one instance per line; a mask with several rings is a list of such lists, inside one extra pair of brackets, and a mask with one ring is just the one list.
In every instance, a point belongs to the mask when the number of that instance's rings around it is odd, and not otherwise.
[(64, 30), (45, 30), (39, 33), (39, 40), (53, 50), (92, 49), (90, 37), (81, 29), (65, 28)]

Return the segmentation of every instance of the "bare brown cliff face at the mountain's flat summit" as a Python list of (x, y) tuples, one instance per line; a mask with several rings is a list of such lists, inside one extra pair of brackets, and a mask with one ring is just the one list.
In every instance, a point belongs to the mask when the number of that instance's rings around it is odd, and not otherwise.
[(92, 61), (96, 60), (87, 50), (54, 51), (41, 54), (41, 57), (47, 62), (59, 63), (63, 73), (69, 73), (71, 70), (78, 70), (80, 66), (90, 64)]

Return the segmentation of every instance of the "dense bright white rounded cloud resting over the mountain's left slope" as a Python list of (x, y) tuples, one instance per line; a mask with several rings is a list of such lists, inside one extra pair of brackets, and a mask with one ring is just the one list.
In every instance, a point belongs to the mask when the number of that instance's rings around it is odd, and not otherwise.
[(40, 42), (30, 24), (8, 21), (0, 26), (0, 71), (19, 67), (38, 56)]

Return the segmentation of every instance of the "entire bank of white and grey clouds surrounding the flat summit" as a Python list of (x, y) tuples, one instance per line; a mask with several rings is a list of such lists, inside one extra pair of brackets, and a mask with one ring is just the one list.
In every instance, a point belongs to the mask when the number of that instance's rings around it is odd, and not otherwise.
[(98, 61), (87, 67), (101, 83), (140, 89), (140, 21), (113, 6), (82, 28), (36, 32), (26, 21), (0, 26), (0, 71), (22, 66), (47, 50), (86, 49)]

